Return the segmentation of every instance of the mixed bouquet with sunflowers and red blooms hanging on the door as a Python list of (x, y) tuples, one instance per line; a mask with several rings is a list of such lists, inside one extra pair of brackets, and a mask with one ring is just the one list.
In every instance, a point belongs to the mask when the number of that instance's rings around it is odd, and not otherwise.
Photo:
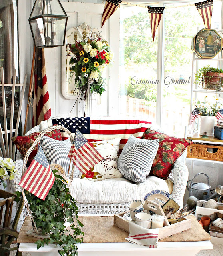
[[(112, 61), (110, 46), (101, 36), (94, 37), (95, 33), (82, 32), (82, 38), (77, 40), (74, 34), (74, 44), (68, 44), (70, 54), (70, 73), (75, 74), (76, 89), (81, 99), (86, 100), (88, 84), (91, 92), (102, 95), (105, 91), (102, 72)], [(83, 39), (83, 40), (82, 40)], [(73, 92), (73, 93), (74, 93)]]

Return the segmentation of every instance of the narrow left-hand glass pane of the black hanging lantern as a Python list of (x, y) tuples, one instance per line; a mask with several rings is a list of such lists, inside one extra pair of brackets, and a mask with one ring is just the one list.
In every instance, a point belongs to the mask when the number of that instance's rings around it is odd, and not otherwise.
[(44, 46), (45, 45), (45, 38), (44, 38), (44, 24), (43, 19), (38, 18), (35, 20), (31, 20), (30, 24), (32, 26), (33, 37), (35, 40), (36, 47)]

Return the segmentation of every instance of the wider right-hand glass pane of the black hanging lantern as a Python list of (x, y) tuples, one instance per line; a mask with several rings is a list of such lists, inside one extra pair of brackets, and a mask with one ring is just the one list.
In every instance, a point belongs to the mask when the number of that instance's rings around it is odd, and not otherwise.
[(66, 18), (45, 17), (46, 45), (63, 45)]

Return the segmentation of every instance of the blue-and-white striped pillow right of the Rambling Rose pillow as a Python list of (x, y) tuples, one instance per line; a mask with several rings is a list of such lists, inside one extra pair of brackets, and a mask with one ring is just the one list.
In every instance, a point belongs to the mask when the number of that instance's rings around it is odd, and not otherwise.
[(130, 136), (118, 159), (119, 172), (136, 183), (145, 182), (159, 147), (159, 140), (144, 141)]

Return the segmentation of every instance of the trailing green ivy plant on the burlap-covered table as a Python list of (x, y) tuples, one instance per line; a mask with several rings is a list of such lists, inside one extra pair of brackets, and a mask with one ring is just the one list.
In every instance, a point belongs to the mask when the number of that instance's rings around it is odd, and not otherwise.
[[(66, 180), (56, 172), (53, 170), (55, 181), (44, 201), (25, 190), (36, 227), (44, 236), (36, 244), (39, 249), (44, 243), (55, 243), (61, 246), (60, 255), (75, 256), (77, 244), (83, 242), (83, 225), (78, 220), (78, 207)], [(22, 200), (22, 192), (17, 191), (16, 195)]]

